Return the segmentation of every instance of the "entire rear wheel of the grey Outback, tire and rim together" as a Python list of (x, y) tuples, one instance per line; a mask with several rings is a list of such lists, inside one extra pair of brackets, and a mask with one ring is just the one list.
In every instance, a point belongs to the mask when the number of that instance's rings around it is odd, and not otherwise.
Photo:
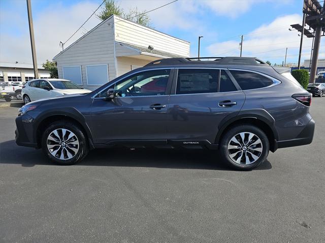
[(230, 167), (250, 170), (266, 160), (270, 144), (264, 131), (256, 126), (243, 124), (231, 128), (222, 136), (219, 150), (223, 161)]

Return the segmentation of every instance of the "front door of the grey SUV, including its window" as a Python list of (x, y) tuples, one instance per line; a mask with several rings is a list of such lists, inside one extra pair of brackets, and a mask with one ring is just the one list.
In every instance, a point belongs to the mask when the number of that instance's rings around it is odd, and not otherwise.
[[(94, 142), (166, 144), (173, 71), (173, 68), (135, 71), (96, 94), (90, 123)], [(151, 83), (158, 80), (159, 86), (153, 88)], [(106, 92), (111, 88), (116, 97), (107, 99)]]

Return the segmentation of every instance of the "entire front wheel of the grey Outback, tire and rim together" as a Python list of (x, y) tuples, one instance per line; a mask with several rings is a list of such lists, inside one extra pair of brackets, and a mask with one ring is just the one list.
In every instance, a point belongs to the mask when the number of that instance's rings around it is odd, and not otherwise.
[(86, 157), (89, 148), (79, 126), (69, 121), (57, 121), (43, 132), (42, 150), (54, 163), (70, 165)]

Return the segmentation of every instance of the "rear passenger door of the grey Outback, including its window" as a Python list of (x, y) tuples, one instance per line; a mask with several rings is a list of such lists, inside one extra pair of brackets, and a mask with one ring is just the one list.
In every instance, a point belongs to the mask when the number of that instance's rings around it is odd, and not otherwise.
[(245, 94), (227, 70), (178, 68), (170, 95), (167, 136), (172, 144), (214, 144), (220, 122), (239, 113)]

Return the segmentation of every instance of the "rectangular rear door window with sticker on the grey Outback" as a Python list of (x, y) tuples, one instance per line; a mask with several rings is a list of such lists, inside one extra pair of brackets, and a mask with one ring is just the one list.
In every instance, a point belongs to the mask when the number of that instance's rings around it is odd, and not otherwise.
[(179, 69), (176, 94), (217, 92), (218, 72), (213, 69)]

